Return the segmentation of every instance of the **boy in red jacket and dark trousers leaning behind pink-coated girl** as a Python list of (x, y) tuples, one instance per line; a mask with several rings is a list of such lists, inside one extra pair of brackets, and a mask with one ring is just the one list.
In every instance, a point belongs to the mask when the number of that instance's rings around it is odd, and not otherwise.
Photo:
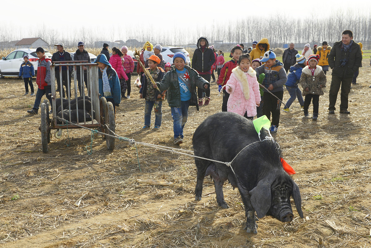
[[(235, 46), (232, 49), (232, 59), (224, 64), (223, 68), (220, 70), (220, 75), (218, 78), (218, 85), (224, 86), (229, 80), (232, 70), (236, 68), (238, 59), (242, 55), (242, 48), (240, 46)], [(221, 111), (227, 112), (227, 102), (229, 98), (229, 93), (223, 89), (223, 104), (221, 105)]]

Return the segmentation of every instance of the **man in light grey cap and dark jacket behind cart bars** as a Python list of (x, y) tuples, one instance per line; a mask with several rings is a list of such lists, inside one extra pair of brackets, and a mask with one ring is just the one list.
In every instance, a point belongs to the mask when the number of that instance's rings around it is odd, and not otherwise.
[[(57, 47), (58, 52), (53, 53), (52, 56), (52, 63), (55, 61), (72, 61), (72, 57), (69, 52), (66, 52), (64, 50), (64, 44), (62, 42), (59, 42), (57, 45), (54, 45)], [(71, 75), (72, 75), (72, 66), (68, 66), (68, 77), (67, 77), (67, 66), (62, 66), (62, 84), (66, 87), (66, 92), (68, 92), (69, 89), (69, 96), (71, 97)], [(57, 79), (57, 89), (56, 91), (60, 91), (60, 72), (59, 72), (59, 66), (55, 67), (55, 78)], [(68, 78), (68, 80), (67, 80)], [(65, 97), (65, 89), (62, 85), (62, 97)], [(59, 93), (60, 94), (60, 93)]]

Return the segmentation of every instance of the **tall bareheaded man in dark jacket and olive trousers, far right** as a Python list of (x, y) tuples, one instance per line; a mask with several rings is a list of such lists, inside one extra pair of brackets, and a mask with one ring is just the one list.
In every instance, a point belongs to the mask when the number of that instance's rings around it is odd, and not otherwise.
[(361, 66), (361, 48), (354, 42), (353, 33), (345, 30), (341, 41), (335, 42), (328, 55), (328, 63), (332, 69), (331, 86), (329, 90), (329, 114), (335, 114), (336, 98), (340, 93), (340, 114), (350, 114), (348, 111), (348, 94), (350, 92), (354, 72)]

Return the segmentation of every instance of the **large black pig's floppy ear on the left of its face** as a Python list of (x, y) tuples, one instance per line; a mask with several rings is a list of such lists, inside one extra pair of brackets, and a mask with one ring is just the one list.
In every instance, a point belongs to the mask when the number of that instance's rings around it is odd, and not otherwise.
[(257, 218), (263, 218), (270, 208), (272, 202), (272, 196), (270, 194), (270, 186), (272, 180), (269, 178), (261, 180), (255, 188), (250, 190), (250, 201), (251, 205), (256, 211)]

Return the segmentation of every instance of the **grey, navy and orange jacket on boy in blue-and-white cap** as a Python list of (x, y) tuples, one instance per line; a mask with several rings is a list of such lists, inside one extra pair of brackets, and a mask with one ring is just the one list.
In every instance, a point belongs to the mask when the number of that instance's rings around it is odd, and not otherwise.
[[(265, 74), (262, 85), (268, 88), (270, 84), (273, 85), (273, 89), (270, 92), (283, 91), (283, 85), (286, 84), (287, 74), (282, 66), (283, 64), (276, 60), (276, 63), (272, 67), (265, 66), (265, 64), (255, 69), (256, 74)], [(264, 89), (265, 92), (268, 92)]]

